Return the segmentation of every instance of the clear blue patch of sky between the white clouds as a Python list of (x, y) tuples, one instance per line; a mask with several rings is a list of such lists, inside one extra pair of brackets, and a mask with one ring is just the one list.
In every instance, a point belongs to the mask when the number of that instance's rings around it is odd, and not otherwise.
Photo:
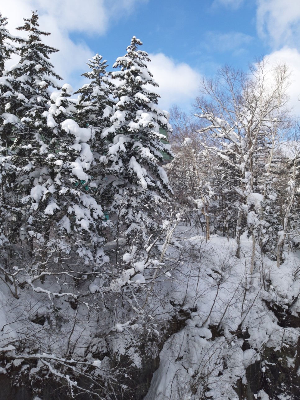
[(224, 62), (247, 67), (253, 54), (265, 53), (268, 47), (256, 36), (254, 2), (235, 8), (213, 1), (149, 0), (113, 21), (103, 35), (72, 32), (70, 37), (114, 60), (133, 35), (148, 53), (163, 53), (205, 74)]

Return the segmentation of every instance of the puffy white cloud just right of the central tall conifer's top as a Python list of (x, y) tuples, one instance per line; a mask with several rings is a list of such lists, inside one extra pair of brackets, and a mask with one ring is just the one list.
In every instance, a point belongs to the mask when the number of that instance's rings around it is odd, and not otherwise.
[(177, 104), (186, 110), (198, 94), (200, 74), (188, 64), (176, 63), (165, 54), (150, 54), (151, 62), (148, 65), (154, 80), (159, 87), (155, 91), (160, 94), (159, 106), (168, 110)]

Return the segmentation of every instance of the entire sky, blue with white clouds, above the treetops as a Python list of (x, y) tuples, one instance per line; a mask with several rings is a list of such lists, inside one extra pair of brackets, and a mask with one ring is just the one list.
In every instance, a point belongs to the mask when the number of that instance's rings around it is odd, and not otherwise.
[(99, 52), (112, 66), (135, 35), (150, 54), (166, 110), (172, 104), (191, 110), (202, 76), (213, 77), (223, 64), (247, 70), (268, 56), (291, 66), (291, 105), (300, 115), (296, 0), (11, 0), (0, 9), (12, 33), (38, 10), (40, 28), (52, 32), (45, 42), (60, 49), (52, 58), (56, 71), (74, 90), (84, 83), (88, 58)]

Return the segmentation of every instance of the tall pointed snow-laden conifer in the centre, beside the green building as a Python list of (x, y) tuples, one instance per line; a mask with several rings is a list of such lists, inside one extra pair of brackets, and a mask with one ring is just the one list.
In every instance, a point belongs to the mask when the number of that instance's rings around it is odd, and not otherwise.
[(162, 152), (170, 154), (168, 146), (160, 142), (159, 128), (171, 127), (166, 113), (157, 106), (158, 94), (145, 87), (158, 84), (147, 68), (148, 54), (138, 50), (141, 44), (134, 36), (125, 56), (114, 64), (120, 68), (112, 72), (112, 78), (119, 81), (114, 90), (116, 106), (110, 126), (102, 133), (106, 142), (102, 160), (113, 199), (108, 204), (110, 218), (117, 221), (117, 227), (124, 222), (126, 236), (139, 232), (138, 241), (147, 240), (156, 227), (163, 202), (172, 191), (159, 165)]

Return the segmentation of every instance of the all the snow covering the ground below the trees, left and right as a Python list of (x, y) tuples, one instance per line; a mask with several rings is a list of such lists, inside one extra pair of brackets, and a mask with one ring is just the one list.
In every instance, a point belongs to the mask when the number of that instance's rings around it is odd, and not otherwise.
[[(213, 235), (206, 241), (195, 227), (181, 224), (163, 263), (153, 260), (146, 266), (144, 261), (134, 259), (134, 253), (123, 254), (126, 270), (122, 284), (150, 288), (152, 297), (147, 300), (150, 304), (147, 312), (153, 321), (165, 323), (168, 315), (174, 315), (176, 307), (190, 314), (184, 328), (164, 343), (160, 365), (145, 400), (200, 399), (204, 393), (218, 400), (237, 399), (236, 382), (246, 383), (246, 368), (261, 360), (266, 346), (280, 350), (297, 342), (300, 329), (280, 326), (270, 308), (290, 307), (295, 315), (299, 311), (300, 253), (285, 252), (284, 263), (278, 269), (276, 262), (256, 249), (251, 273), (252, 240), (246, 234), (241, 237), (240, 259), (235, 257), (235, 252), (234, 239), (228, 241)], [(151, 286), (148, 282), (156, 267), (157, 283)], [(29, 277), (26, 279), (32, 286)], [(101, 280), (101, 274), (94, 280), (86, 278), (87, 302), (98, 296), (103, 286)], [(105, 334), (111, 332), (112, 351), (119, 356), (126, 354), (132, 365), (140, 368), (141, 355), (130, 342), (132, 338), (145, 339), (140, 336), (141, 325), (135, 321), (134, 314), (118, 308), (110, 315), (100, 302), (97, 303), (99, 311), (89, 310), (84, 303), (74, 309), (70, 306), (72, 299), (60, 295), (49, 302), (47, 290), (59, 292), (62, 287), (59, 280), (52, 278), (40, 286), (44, 292), (18, 290), (20, 299), (16, 299), (10, 295), (8, 285), (0, 284), (2, 349), (13, 346), (20, 332), (23, 332), (21, 336), (33, 332), (32, 340), (40, 344), (41, 353), (64, 354), (69, 346), (76, 358), (84, 354), (91, 336), (95, 338), (95, 348), (102, 346), (97, 335), (104, 329)], [(140, 313), (144, 312), (142, 303), (136, 307), (140, 307)], [(27, 315), (30, 315), (29, 322)], [(38, 319), (44, 316), (47, 317), (42, 325)], [(153, 327), (154, 337), (160, 337), (159, 326), (153, 324)], [(88, 358), (92, 365), (100, 365), (100, 360), (94, 360), (92, 350)], [(293, 364), (294, 359), (289, 362)], [(264, 364), (263, 368), (268, 365)], [(262, 393), (262, 398), (267, 400), (268, 396)]]

